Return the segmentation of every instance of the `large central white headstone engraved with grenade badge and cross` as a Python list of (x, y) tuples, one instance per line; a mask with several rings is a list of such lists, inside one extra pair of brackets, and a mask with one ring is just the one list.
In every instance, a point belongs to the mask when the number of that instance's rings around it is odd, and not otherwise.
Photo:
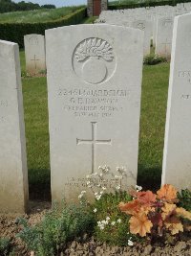
[(76, 200), (105, 164), (136, 184), (143, 32), (67, 26), (46, 31), (46, 45), (53, 200)]

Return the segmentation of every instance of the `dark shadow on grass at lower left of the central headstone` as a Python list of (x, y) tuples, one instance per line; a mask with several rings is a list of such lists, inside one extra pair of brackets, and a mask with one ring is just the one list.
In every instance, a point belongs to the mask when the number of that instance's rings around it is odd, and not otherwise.
[(29, 170), (30, 200), (51, 200), (51, 172), (50, 170)]

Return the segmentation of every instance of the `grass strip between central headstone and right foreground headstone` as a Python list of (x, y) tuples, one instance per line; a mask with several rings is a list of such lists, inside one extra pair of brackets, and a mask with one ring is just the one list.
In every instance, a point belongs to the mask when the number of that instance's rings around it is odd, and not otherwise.
[(160, 185), (168, 77), (169, 63), (143, 68), (138, 184), (150, 189)]

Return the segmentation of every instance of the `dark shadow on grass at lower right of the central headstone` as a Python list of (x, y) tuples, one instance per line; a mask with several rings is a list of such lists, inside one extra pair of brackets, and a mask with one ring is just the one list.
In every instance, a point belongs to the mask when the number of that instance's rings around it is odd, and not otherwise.
[(145, 168), (138, 165), (138, 185), (142, 186), (143, 190), (151, 190), (156, 192), (160, 188), (161, 168), (159, 166)]

